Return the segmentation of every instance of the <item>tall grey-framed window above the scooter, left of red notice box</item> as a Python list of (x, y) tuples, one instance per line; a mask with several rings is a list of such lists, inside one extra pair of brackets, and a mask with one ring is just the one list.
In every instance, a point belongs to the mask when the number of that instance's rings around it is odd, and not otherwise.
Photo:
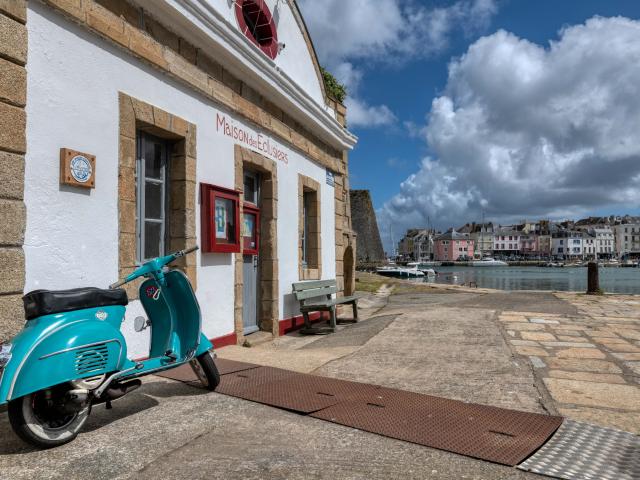
[(136, 159), (136, 260), (166, 254), (169, 147), (163, 140), (138, 132)]

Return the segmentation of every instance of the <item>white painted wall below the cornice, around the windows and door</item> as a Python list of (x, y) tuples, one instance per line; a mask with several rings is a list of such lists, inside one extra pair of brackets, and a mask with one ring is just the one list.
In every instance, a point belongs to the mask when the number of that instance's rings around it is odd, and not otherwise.
[[(234, 143), (216, 132), (216, 114), (233, 117), (39, 2), (29, 3), (27, 27), (25, 291), (106, 287), (118, 275), (118, 92), (196, 124), (198, 181), (227, 188), (234, 187)], [(60, 186), (61, 147), (96, 155), (95, 189)], [(325, 169), (282, 148), (289, 158), (288, 164), (278, 162), (280, 315), (285, 318), (297, 314), (283, 297), (298, 280), (298, 172), (322, 185), (324, 278), (335, 277), (335, 229), (334, 192), (325, 182)], [(196, 215), (200, 239), (199, 211)], [(233, 255), (197, 255), (204, 332), (209, 338), (229, 334), (234, 329)], [(147, 353), (148, 337), (133, 332), (139, 314), (139, 302), (132, 302), (123, 326), (133, 357)]]

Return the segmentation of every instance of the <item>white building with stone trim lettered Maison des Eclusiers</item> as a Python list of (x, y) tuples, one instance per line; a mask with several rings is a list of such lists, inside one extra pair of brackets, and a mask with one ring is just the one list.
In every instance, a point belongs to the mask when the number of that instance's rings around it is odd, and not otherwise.
[[(3, 266), (18, 280), (0, 294), (104, 288), (198, 245), (181, 267), (220, 346), (300, 324), (293, 282), (353, 289), (356, 138), (295, 1), (13, 0), (0, 16), (23, 32), (7, 30), (17, 46), (0, 53), (26, 63), (27, 85), (26, 122), (14, 122), (26, 142), (0, 134), (0, 150), (24, 154), (26, 210), (17, 260)], [(74, 161), (90, 181), (71, 178)], [(133, 319), (145, 313), (135, 286), (128, 294), (128, 354), (143, 357), (148, 331)], [(2, 334), (21, 325), (2, 318)]]

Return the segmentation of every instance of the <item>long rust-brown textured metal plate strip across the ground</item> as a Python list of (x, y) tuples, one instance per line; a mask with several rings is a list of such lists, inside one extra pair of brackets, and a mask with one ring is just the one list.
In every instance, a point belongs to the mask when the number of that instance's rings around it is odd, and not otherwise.
[(224, 374), (217, 392), (511, 466), (562, 423), (560, 417), (256, 365)]

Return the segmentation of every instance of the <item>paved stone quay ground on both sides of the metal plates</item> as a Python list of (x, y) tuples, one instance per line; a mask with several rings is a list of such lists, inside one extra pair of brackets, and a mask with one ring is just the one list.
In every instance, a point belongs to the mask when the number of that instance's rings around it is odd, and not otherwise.
[[(218, 358), (640, 433), (640, 296), (369, 273), (356, 286), (358, 323), (326, 336), (253, 336)], [(6, 418), (0, 431), (0, 477), (11, 479), (544, 478), (157, 376), (110, 411), (96, 406), (62, 447), (29, 449)]]

